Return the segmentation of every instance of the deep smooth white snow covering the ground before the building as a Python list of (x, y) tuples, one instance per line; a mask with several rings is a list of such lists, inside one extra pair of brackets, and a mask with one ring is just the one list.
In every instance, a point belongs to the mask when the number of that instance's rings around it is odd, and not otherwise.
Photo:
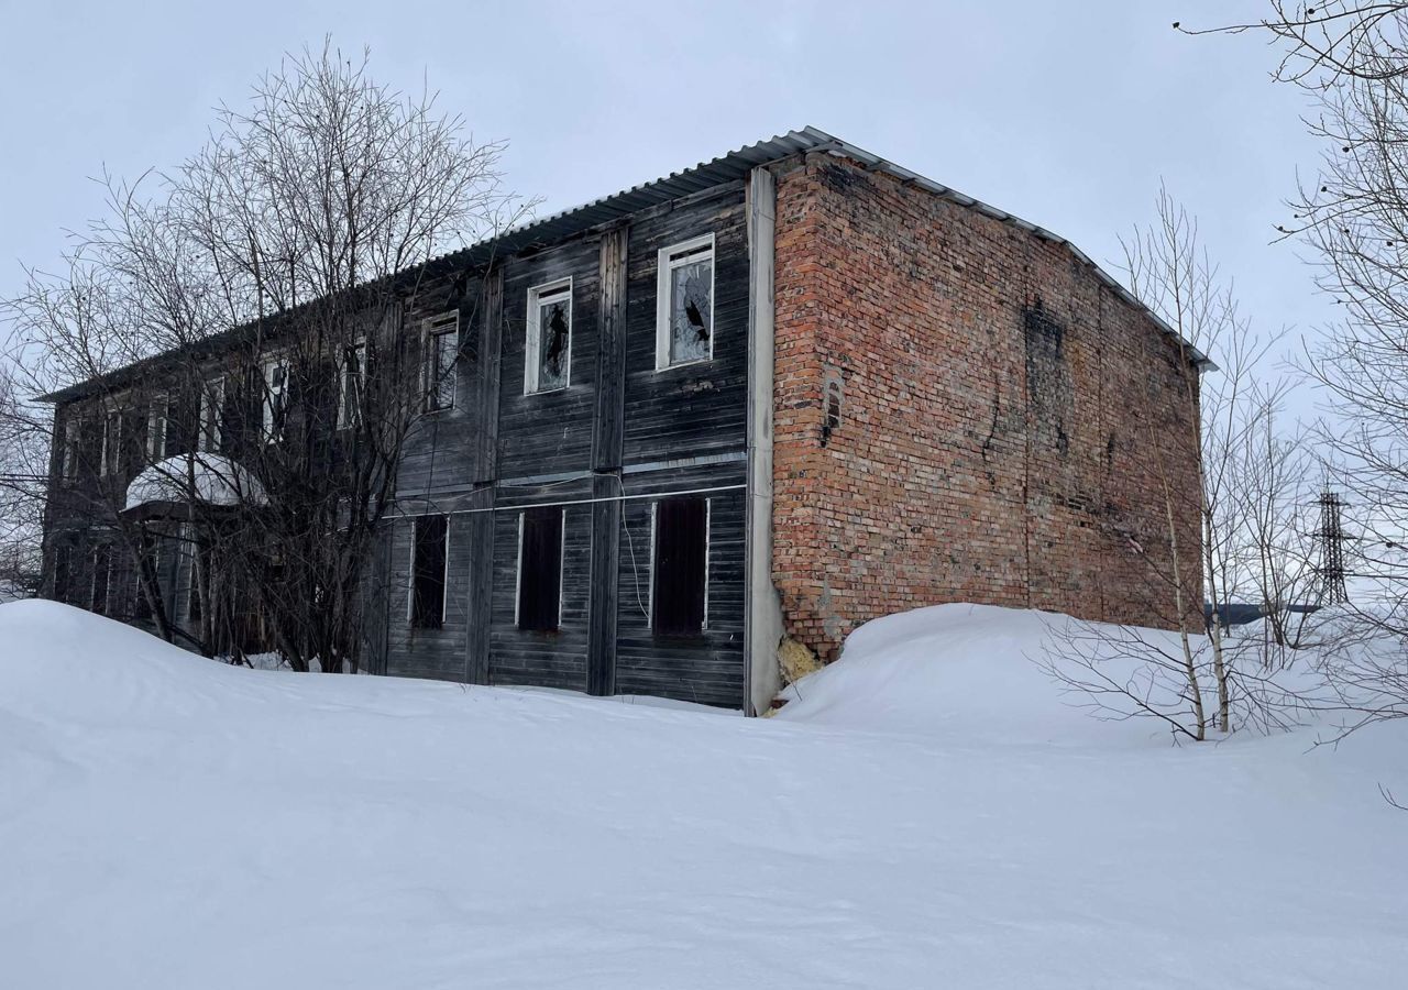
[(742, 720), (3, 606), (0, 986), (1404, 986), (1408, 724), (1176, 748), (1045, 621), (881, 620)]

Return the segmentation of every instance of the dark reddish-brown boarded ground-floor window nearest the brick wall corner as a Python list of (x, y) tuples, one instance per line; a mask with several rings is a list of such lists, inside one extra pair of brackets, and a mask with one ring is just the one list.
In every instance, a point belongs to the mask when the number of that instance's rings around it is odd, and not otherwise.
[(650, 625), (660, 635), (704, 628), (708, 584), (708, 500), (662, 499), (655, 506), (655, 590)]

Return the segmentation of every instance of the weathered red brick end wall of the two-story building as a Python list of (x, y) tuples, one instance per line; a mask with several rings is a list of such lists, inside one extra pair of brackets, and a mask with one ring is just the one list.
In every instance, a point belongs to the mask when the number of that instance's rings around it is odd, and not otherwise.
[(790, 635), (829, 660), (943, 601), (1171, 622), (1163, 482), (1195, 582), (1197, 444), (1148, 317), (1070, 249), (828, 155), (779, 176), (776, 249)]

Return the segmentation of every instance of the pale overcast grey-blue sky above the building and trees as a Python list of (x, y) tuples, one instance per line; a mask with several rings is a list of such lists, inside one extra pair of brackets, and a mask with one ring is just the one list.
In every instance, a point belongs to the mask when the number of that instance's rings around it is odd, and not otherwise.
[(1110, 269), (1160, 177), (1200, 215), (1266, 328), (1332, 313), (1270, 245), (1318, 149), (1274, 54), (1170, 23), (1264, 0), (1007, 3), (453, 3), (0, 0), (0, 296), (100, 211), (89, 180), (193, 152), (211, 107), (325, 34), (372, 73), (422, 77), (510, 184), (562, 207), (814, 124), (1070, 238)]

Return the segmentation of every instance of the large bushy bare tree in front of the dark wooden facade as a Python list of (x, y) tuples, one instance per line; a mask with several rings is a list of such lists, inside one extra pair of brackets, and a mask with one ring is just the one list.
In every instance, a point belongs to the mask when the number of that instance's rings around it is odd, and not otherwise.
[[(439, 387), (403, 314), (439, 255), (522, 210), (501, 145), (366, 68), (331, 45), (286, 58), (180, 169), (106, 179), (108, 215), (68, 270), (31, 272), (10, 301), (32, 375), (97, 382), (90, 417), (145, 437), (141, 493), (182, 508), (166, 535), (189, 544), (200, 645), (238, 652), (253, 606), (297, 670), (360, 662), (401, 449)], [(104, 473), (113, 444), (76, 432)], [(130, 486), (100, 493), (92, 511), (141, 575), (151, 522)]]

